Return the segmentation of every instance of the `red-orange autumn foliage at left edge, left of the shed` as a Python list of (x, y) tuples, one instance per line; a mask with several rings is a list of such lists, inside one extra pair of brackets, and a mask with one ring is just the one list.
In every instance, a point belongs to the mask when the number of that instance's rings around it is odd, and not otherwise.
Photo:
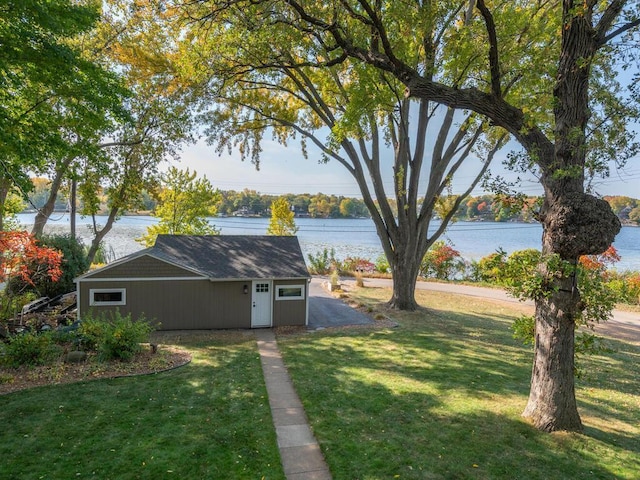
[(48, 278), (55, 282), (62, 275), (62, 254), (40, 246), (28, 232), (0, 232), (0, 252), (0, 282), (18, 278), (35, 286), (39, 280)]

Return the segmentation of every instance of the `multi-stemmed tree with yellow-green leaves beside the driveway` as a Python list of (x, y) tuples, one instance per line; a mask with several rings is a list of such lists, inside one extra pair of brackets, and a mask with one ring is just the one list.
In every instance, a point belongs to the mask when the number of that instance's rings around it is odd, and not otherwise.
[[(375, 67), (332, 59), (330, 45), (287, 23), (291, 11), (283, 3), (170, 3), (168, 28), (182, 39), (175, 61), (183, 81), (201, 92), (209, 141), (219, 153), (235, 148), (259, 167), (264, 135), (283, 145), (299, 139), (305, 157), (313, 147), (319, 161), (342, 165), (358, 184), (392, 267), (390, 305), (417, 308), (414, 286), (425, 251), (486, 173), (505, 135), (470, 112), (405, 98), (402, 83)], [(442, 48), (444, 27), (425, 28)], [(412, 65), (435, 75), (435, 60), (421, 51)], [(464, 162), (474, 163), (476, 174), (430, 230), (437, 199)], [(328, 208), (320, 201), (309, 211), (328, 216)]]

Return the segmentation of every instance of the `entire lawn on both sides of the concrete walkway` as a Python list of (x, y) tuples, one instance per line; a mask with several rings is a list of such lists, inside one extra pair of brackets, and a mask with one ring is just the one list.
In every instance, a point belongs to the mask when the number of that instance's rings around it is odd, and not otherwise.
[[(420, 291), (428, 308), (398, 314), (389, 295), (350, 294), (376, 327), (278, 336), (335, 480), (640, 478), (638, 345), (581, 361), (584, 434), (540, 433), (520, 416), (523, 307)], [(253, 335), (163, 343), (193, 361), (0, 396), (0, 478), (284, 479)]]

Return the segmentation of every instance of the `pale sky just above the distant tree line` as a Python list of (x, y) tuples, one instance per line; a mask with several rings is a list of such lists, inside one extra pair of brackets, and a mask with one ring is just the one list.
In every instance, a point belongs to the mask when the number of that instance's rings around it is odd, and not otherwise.
[[(517, 176), (501, 165), (502, 160), (513, 148), (518, 146), (509, 144), (499, 153), (490, 167), (492, 173), (510, 179)], [(390, 159), (391, 154), (392, 152), (388, 152), (387, 158)], [(305, 159), (299, 144), (295, 141), (284, 147), (265, 138), (258, 171), (251, 162), (241, 161), (237, 152), (219, 156), (213, 147), (207, 146), (201, 140), (195, 145), (184, 148), (181, 161), (177, 166), (196, 170), (199, 176), (206, 176), (213, 186), (220, 190), (241, 191), (247, 188), (270, 195), (322, 192), (328, 195), (362, 197), (355, 180), (346, 168), (335, 160), (320, 164), (319, 158), (320, 155), (310, 149), (309, 158)], [(470, 165), (458, 172), (452, 185), (454, 194), (462, 193), (475, 176), (477, 168), (474, 167), (477, 167), (479, 162), (474, 160), (467, 160)], [(384, 178), (388, 179), (385, 181), (385, 188), (389, 196), (392, 196), (393, 178), (390, 170)], [(538, 180), (533, 176), (524, 178), (521, 185), (520, 191), (528, 195), (542, 193)], [(603, 196), (625, 195), (640, 198), (640, 158), (630, 160), (623, 170), (612, 171), (609, 178), (596, 180), (594, 189), (597, 194)], [(472, 192), (476, 196), (482, 193), (480, 187)]]

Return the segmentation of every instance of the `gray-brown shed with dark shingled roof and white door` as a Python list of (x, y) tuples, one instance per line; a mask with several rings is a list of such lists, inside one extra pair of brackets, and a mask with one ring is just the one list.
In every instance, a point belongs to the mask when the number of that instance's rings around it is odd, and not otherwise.
[(297, 237), (159, 235), (76, 278), (78, 315), (119, 309), (160, 330), (307, 325), (309, 279)]

